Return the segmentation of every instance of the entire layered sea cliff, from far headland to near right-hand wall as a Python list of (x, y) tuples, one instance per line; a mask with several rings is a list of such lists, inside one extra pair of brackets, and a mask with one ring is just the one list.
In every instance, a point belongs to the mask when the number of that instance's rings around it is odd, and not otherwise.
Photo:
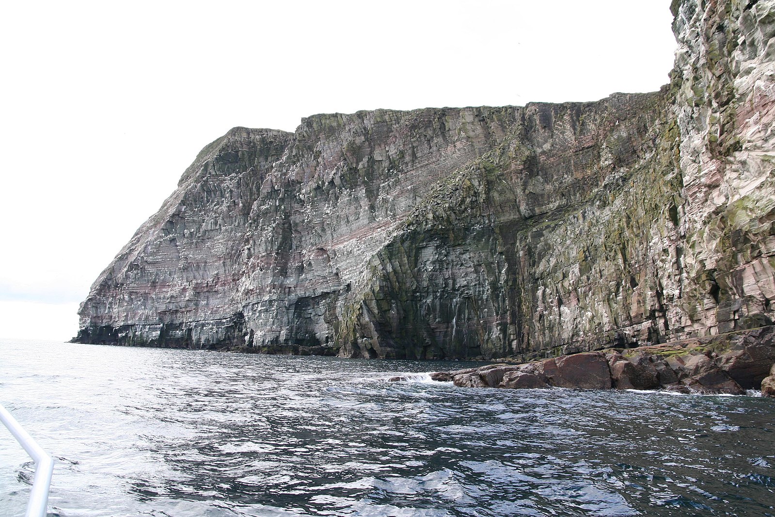
[(656, 93), (232, 129), (76, 340), (530, 359), (772, 324), (775, 0), (672, 9)]

